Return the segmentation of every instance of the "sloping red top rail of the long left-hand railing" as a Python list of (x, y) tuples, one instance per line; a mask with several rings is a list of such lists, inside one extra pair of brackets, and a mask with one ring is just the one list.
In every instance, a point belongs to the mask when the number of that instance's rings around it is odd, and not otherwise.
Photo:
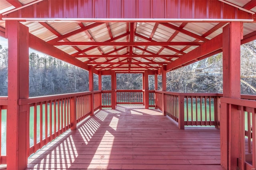
[(28, 99), (19, 99), (18, 104), (19, 105), (25, 105), (25, 104), (30, 104), (30, 103), (38, 103), (38, 102), (42, 102), (42, 101), (51, 101), (51, 100), (63, 99), (63, 98), (68, 98), (68, 97), (75, 97), (75, 96), (80, 96), (80, 95), (100, 93), (100, 92), (101, 91), (86, 91), (86, 92), (68, 93), (68, 94), (62, 94), (62, 95), (30, 97)]

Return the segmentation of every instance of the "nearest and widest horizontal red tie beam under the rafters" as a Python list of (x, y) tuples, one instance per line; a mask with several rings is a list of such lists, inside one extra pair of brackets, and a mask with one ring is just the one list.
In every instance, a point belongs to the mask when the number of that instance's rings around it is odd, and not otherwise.
[(55, 42), (52, 45), (85, 45), (85, 46), (144, 46), (144, 45), (202, 45), (203, 42)]

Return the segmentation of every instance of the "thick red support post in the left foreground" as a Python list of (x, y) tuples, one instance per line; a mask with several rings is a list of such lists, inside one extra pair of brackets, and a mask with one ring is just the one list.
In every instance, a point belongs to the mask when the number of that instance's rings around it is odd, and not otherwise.
[(23, 170), (28, 164), (29, 106), (18, 105), (29, 97), (28, 28), (6, 21), (8, 31), (8, 109), (6, 126), (7, 170)]

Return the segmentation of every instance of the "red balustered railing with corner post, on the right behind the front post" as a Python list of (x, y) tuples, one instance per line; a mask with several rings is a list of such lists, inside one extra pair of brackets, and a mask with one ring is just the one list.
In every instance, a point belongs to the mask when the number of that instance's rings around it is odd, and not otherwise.
[[(184, 126), (218, 126), (217, 93), (175, 93), (156, 91), (156, 108)], [(184, 106), (184, 107), (180, 107)]]

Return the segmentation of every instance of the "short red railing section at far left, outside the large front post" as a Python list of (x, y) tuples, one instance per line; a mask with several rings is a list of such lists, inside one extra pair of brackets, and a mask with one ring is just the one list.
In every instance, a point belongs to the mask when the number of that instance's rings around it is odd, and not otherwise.
[[(6, 141), (2, 141), (2, 136), (6, 135), (6, 129), (2, 129), (2, 123), (6, 122), (2, 120), (2, 115), (6, 115), (8, 97), (0, 97), (0, 144), (6, 146)], [(6, 118), (6, 116), (4, 116)], [(3, 136), (4, 137), (4, 136)], [(5, 137), (6, 138), (6, 137)], [(0, 147), (0, 164), (6, 164), (6, 154), (2, 154), (2, 147)]]

